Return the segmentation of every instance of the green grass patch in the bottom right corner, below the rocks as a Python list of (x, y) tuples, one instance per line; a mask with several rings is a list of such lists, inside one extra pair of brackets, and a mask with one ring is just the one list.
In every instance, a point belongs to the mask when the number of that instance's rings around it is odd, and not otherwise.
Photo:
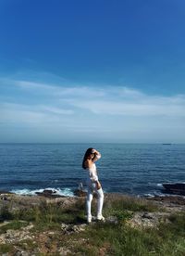
[[(76, 250), (90, 254), (95, 248), (106, 249), (105, 255), (185, 255), (185, 214), (174, 216), (171, 224), (139, 230), (126, 224), (95, 224), (89, 226), (83, 237), (88, 243)], [(105, 245), (109, 245), (106, 246)], [(85, 248), (84, 248), (85, 247)], [(91, 255), (91, 254), (90, 254)]]

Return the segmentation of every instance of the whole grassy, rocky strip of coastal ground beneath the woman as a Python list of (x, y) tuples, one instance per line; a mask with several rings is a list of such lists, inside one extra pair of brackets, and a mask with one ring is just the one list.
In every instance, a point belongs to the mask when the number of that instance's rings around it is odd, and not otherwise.
[(151, 200), (109, 194), (105, 223), (86, 224), (85, 198), (18, 198), (1, 201), (1, 254), (185, 254), (185, 213), (177, 205), (169, 210)]

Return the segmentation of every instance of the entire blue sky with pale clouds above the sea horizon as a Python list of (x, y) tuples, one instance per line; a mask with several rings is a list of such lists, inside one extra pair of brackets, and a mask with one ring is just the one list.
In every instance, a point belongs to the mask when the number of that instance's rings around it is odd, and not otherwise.
[(184, 0), (0, 0), (1, 143), (185, 143)]

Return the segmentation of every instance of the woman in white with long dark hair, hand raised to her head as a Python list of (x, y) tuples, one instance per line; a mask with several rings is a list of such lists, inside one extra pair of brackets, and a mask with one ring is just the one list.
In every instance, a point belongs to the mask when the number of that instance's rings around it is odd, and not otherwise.
[(87, 170), (88, 178), (87, 178), (87, 200), (86, 200), (86, 207), (87, 207), (87, 222), (92, 222), (92, 200), (93, 200), (93, 191), (96, 192), (98, 197), (97, 202), (97, 220), (104, 221), (105, 218), (102, 215), (102, 208), (104, 204), (104, 193), (102, 190), (102, 186), (98, 181), (98, 175), (96, 171), (95, 161), (101, 158), (101, 154), (95, 150), (94, 148), (88, 148), (82, 162), (83, 169)]

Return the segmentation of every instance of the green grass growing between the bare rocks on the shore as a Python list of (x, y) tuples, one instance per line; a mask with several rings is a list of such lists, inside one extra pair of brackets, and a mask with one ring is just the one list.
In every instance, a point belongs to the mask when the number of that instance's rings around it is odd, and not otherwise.
[[(5, 233), (7, 229), (19, 229), (31, 222), (34, 224), (31, 232), (35, 234), (55, 231), (55, 236), (50, 237), (49, 242), (47, 239), (48, 250), (53, 250), (54, 244), (56, 249), (65, 246), (71, 251), (71, 255), (185, 255), (184, 212), (171, 215), (168, 223), (161, 223), (154, 228), (144, 230), (132, 228), (126, 224), (126, 221), (132, 217), (134, 211), (162, 210), (151, 201), (113, 195), (108, 200), (105, 198), (104, 214), (105, 217), (116, 216), (117, 224), (92, 224), (79, 234), (63, 235), (62, 223), (85, 223), (84, 208), (84, 198), (80, 198), (76, 204), (68, 208), (53, 203), (41, 203), (39, 206), (15, 212), (8, 212), (6, 208), (0, 212), (0, 216), (4, 220), (11, 220), (11, 222), (0, 226), (0, 233)], [(95, 210), (96, 202), (93, 201), (93, 213)], [(28, 251), (38, 245), (37, 240), (34, 243), (31, 240), (24, 241), (23, 244), (19, 242), (19, 247)], [(1, 245), (0, 252), (12, 251), (12, 246)], [(57, 255), (57, 250), (55, 255)]]

